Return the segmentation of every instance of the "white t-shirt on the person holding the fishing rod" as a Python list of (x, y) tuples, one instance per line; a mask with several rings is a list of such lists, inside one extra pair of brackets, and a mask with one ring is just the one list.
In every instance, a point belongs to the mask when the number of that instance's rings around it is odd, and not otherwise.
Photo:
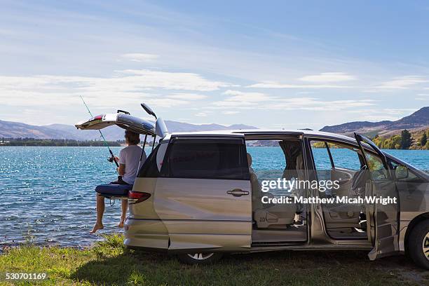
[[(128, 184), (134, 184), (140, 164), (140, 156), (142, 156), (142, 148), (139, 145), (130, 145), (119, 152), (119, 163), (125, 165), (125, 174), (122, 179)], [(143, 151), (140, 166), (143, 165), (144, 161), (146, 161), (146, 153)]]

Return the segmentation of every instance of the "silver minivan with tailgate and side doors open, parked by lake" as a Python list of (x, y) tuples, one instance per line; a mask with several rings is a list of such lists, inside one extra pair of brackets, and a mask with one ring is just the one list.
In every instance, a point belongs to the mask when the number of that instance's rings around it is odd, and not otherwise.
[[(372, 260), (407, 252), (429, 269), (429, 175), (367, 137), (313, 130), (169, 133), (161, 118), (154, 124), (121, 113), (76, 127), (108, 125), (139, 132), (145, 141), (160, 138), (132, 189), (104, 194), (128, 197), (130, 248), (177, 254), (188, 264), (240, 252), (367, 250)], [(266, 182), (282, 179), (319, 186), (330, 179), (338, 187), (266, 190)], [(349, 203), (363, 197), (396, 200)]]

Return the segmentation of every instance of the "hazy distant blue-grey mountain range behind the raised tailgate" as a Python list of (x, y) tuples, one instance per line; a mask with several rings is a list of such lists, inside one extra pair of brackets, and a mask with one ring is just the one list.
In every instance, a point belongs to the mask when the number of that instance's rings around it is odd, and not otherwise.
[[(193, 132), (230, 129), (256, 129), (254, 126), (244, 124), (220, 125), (220, 124), (190, 124), (177, 121), (165, 121), (171, 132)], [(117, 126), (109, 126), (102, 130), (104, 137), (109, 141), (123, 140), (123, 129)], [(76, 139), (95, 140), (100, 139), (97, 130), (79, 130), (73, 125), (29, 125), (25, 123), (1, 121), (0, 138), (36, 138), (36, 139)]]

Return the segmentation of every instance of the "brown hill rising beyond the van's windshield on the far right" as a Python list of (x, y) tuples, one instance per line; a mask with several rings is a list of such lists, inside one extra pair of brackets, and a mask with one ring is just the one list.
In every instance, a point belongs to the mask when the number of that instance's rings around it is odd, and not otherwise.
[(427, 128), (429, 128), (429, 107), (423, 107), (397, 121), (354, 121), (340, 125), (325, 126), (320, 131), (344, 135), (351, 135), (353, 132), (370, 135), (395, 135), (404, 129), (417, 131)]

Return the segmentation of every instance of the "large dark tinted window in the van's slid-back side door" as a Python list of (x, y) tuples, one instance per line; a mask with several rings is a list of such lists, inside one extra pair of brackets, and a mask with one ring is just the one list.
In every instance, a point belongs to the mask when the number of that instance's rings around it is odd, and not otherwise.
[(178, 138), (168, 147), (162, 176), (193, 179), (249, 179), (243, 139)]

